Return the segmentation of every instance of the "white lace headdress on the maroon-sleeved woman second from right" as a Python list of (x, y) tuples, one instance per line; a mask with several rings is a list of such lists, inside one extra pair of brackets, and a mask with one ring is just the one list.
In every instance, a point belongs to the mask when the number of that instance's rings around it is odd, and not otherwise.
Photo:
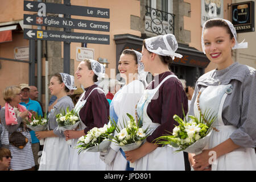
[(152, 38), (145, 39), (146, 48), (150, 52), (154, 52), (162, 56), (171, 56), (181, 58), (182, 55), (175, 53), (178, 48), (177, 40), (174, 35), (166, 34), (154, 36)]

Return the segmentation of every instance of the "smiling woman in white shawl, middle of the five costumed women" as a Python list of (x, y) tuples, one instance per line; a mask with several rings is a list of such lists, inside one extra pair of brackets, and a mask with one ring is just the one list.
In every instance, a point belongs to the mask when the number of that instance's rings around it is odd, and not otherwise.
[[(144, 73), (141, 57), (140, 52), (125, 49), (119, 59), (118, 70), (121, 77), (125, 78), (126, 84), (115, 93), (110, 104), (110, 118), (117, 122), (119, 128), (123, 127), (123, 121), (129, 121), (127, 113), (136, 118), (136, 105), (144, 92), (144, 84), (146, 84), (146, 73)], [(117, 135), (116, 131), (115, 135)], [(108, 154), (102, 154), (101, 159), (106, 163), (106, 170), (133, 170), (126, 160), (125, 152), (114, 142), (110, 144)]]

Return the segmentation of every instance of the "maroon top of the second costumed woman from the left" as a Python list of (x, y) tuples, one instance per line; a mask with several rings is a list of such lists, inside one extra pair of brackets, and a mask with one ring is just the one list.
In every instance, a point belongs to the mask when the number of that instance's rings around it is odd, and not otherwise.
[[(85, 95), (82, 100), (85, 100), (89, 93), (96, 87), (98, 86), (94, 84), (85, 88)], [(99, 89), (93, 90), (87, 98), (85, 105), (80, 109), (79, 116), (86, 126), (84, 129), (85, 134), (93, 129), (93, 127), (103, 127), (104, 124), (108, 124), (109, 102), (106, 100), (105, 93)]]

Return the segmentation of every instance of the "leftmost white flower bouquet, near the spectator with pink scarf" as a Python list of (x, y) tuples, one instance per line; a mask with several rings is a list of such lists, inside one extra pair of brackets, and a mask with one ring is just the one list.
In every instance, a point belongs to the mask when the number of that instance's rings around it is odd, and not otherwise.
[[(47, 123), (48, 123), (48, 119), (46, 114), (44, 114), (44, 117), (42, 118), (41, 115), (38, 115), (38, 113), (36, 113), (36, 115), (32, 114), (31, 122), (27, 121), (27, 127), (35, 132), (44, 131), (47, 129)], [(40, 139), (39, 142), (40, 142), (40, 145), (43, 145), (44, 139)]]

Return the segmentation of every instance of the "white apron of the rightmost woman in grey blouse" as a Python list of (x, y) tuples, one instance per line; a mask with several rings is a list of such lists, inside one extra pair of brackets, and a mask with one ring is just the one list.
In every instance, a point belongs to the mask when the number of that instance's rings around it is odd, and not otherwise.
[[(199, 104), (202, 113), (206, 109), (211, 109), (217, 114), (217, 118), (213, 123), (218, 131), (213, 130), (210, 135), (208, 146), (205, 148), (213, 148), (218, 144), (229, 139), (229, 136), (237, 130), (236, 126), (224, 125), (222, 121), (222, 108), (228, 94), (232, 93), (232, 85), (207, 86), (201, 92)], [(194, 113), (199, 116), (199, 110), (194, 104)], [(256, 170), (256, 155), (254, 148), (240, 147), (228, 154), (220, 156), (215, 163), (212, 164), (212, 171), (231, 171), (231, 170)]]

